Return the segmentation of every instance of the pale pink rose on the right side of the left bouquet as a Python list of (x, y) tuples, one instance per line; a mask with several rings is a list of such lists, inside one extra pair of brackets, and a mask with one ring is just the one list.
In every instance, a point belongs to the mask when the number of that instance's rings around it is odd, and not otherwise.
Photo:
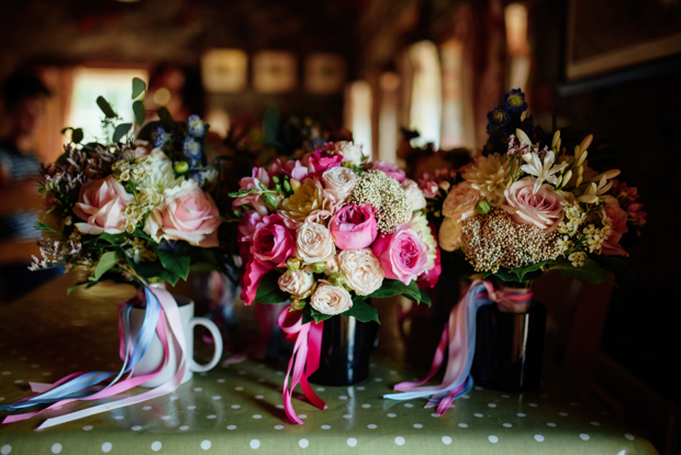
[(165, 204), (154, 209), (144, 231), (153, 237), (186, 241), (194, 246), (217, 246), (217, 226), (222, 223), (217, 206), (194, 180), (166, 190)]

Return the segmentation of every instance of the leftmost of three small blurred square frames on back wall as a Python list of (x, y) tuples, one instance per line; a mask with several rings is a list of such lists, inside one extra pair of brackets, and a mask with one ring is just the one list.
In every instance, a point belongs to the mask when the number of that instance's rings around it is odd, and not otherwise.
[(210, 49), (201, 57), (201, 78), (206, 91), (242, 91), (248, 80), (248, 56), (241, 49)]

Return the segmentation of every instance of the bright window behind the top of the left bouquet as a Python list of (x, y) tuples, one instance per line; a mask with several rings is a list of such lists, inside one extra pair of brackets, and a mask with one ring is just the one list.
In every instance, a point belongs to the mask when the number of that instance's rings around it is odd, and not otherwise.
[(148, 80), (143, 69), (76, 68), (71, 108), (65, 126), (82, 127), (85, 142), (107, 141), (101, 126), (104, 114), (97, 106), (97, 97), (109, 101), (122, 118), (121, 122), (132, 122), (135, 118), (131, 99), (134, 77)]

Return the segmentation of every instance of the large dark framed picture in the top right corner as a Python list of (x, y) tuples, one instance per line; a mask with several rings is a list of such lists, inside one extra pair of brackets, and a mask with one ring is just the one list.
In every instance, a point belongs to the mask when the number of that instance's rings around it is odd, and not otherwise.
[(681, 2), (569, 0), (568, 80), (681, 54)]

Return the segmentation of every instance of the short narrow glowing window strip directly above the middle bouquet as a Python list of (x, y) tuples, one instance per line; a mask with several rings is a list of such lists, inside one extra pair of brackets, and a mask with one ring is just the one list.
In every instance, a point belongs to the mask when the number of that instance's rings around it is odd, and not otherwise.
[(369, 82), (359, 80), (348, 86), (345, 101), (345, 125), (353, 132), (355, 144), (362, 146), (367, 156), (371, 149), (371, 87)]

